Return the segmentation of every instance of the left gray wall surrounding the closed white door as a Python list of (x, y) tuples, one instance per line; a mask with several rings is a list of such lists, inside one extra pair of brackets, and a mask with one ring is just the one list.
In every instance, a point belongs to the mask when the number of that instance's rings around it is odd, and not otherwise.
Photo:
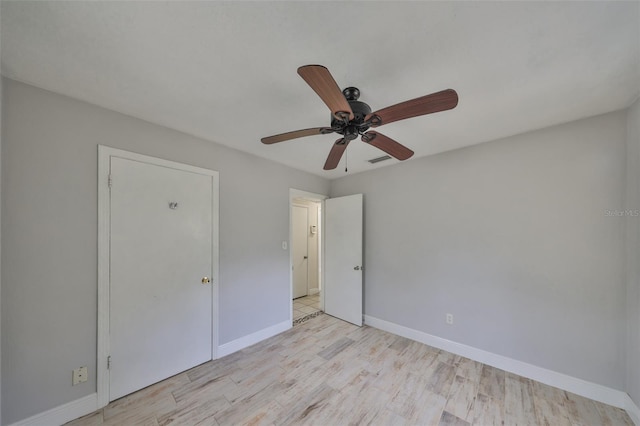
[(220, 344), (289, 319), (289, 188), (328, 181), (11, 80), (3, 100), (4, 424), (96, 391), (98, 144), (220, 172)]

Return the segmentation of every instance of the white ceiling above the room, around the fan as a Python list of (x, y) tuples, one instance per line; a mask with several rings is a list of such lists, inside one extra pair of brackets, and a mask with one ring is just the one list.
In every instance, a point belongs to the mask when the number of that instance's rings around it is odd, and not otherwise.
[[(412, 161), (629, 106), (640, 3), (27, 2), (1, 4), (2, 74), (332, 179), (336, 135), (296, 69), (329, 68), (374, 110), (453, 88), (451, 111), (380, 127)], [(354, 141), (349, 173), (383, 155)]]

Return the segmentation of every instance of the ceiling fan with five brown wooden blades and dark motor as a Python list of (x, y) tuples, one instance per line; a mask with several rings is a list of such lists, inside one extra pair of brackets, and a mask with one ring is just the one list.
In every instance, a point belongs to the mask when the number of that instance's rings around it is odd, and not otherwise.
[(390, 156), (398, 160), (406, 160), (413, 155), (412, 150), (382, 133), (374, 130), (369, 131), (369, 128), (379, 127), (383, 124), (406, 118), (446, 111), (458, 105), (456, 91), (447, 89), (371, 112), (369, 105), (358, 100), (360, 90), (355, 87), (347, 87), (340, 92), (340, 88), (331, 73), (322, 65), (302, 66), (298, 68), (298, 74), (331, 110), (330, 127), (295, 130), (268, 136), (261, 140), (262, 143), (269, 145), (304, 136), (338, 133), (342, 137), (331, 147), (327, 161), (324, 163), (324, 170), (335, 169), (349, 142), (358, 136), (362, 136), (363, 142), (381, 149)]

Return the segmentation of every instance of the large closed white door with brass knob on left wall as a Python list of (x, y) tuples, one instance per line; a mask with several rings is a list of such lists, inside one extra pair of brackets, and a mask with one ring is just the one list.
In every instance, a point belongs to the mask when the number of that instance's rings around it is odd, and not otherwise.
[(112, 401), (212, 359), (214, 186), (117, 157), (110, 177)]

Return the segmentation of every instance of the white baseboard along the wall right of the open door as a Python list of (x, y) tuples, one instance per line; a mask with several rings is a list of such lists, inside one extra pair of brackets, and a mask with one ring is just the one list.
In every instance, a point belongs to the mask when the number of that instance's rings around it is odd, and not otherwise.
[[(632, 417), (636, 425), (640, 426), (638, 419), (638, 407), (625, 392), (528, 364), (526, 362), (518, 361), (513, 358), (477, 349), (472, 346), (463, 345), (438, 336), (433, 336), (422, 331), (414, 330), (412, 328), (369, 315), (364, 316), (364, 321), (365, 324), (371, 327), (379, 328), (380, 330), (388, 331), (389, 333), (397, 334), (398, 336), (406, 337), (438, 349), (443, 349), (456, 355), (464, 356), (474, 361), (575, 393), (576, 395), (584, 396), (585, 398), (613, 405), (614, 407), (623, 408), (627, 410), (629, 416)], [(636, 418), (633, 418), (634, 415)]]

